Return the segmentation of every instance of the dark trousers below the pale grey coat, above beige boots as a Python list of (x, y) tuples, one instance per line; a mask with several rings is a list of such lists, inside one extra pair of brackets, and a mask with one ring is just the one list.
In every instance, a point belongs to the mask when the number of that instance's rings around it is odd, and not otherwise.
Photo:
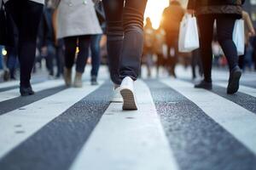
[(76, 71), (84, 73), (84, 68), (89, 56), (90, 36), (65, 37), (65, 66), (72, 69), (76, 55), (76, 49), (79, 47), (79, 54), (76, 60)]

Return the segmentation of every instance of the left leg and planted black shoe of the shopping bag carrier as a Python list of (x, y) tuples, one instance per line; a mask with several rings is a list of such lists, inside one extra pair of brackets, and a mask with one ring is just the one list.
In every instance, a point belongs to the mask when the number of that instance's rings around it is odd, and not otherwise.
[(202, 14), (198, 17), (204, 80), (196, 84), (195, 88), (212, 89), (212, 36), (214, 20), (212, 14)]

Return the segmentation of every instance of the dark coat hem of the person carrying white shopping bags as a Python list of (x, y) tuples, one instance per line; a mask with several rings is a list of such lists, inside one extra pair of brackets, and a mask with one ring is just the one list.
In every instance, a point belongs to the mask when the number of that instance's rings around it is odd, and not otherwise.
[(189, 0), (189, 9), (196, 14), (237, 14), (241, 15), (241, 5), (245, 0)]

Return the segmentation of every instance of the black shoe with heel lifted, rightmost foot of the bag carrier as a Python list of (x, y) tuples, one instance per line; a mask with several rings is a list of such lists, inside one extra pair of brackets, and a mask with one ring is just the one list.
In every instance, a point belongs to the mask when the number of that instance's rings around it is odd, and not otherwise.
[(236, 66), (230, 72), (230, 80), (227, 88), (227, 94), (236, 94), (236, 92), (239, 89), (240, 78), (241, 78), (241, 69), (238, 66)]

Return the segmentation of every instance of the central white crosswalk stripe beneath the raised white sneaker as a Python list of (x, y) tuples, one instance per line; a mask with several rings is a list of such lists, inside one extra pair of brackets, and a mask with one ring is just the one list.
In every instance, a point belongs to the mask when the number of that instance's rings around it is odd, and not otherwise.
[(139, 110), (122, 111), (122, 104), (109, 105), (72, 170), (178, 169), (148, 86), (137, 81), (135, 88)]

